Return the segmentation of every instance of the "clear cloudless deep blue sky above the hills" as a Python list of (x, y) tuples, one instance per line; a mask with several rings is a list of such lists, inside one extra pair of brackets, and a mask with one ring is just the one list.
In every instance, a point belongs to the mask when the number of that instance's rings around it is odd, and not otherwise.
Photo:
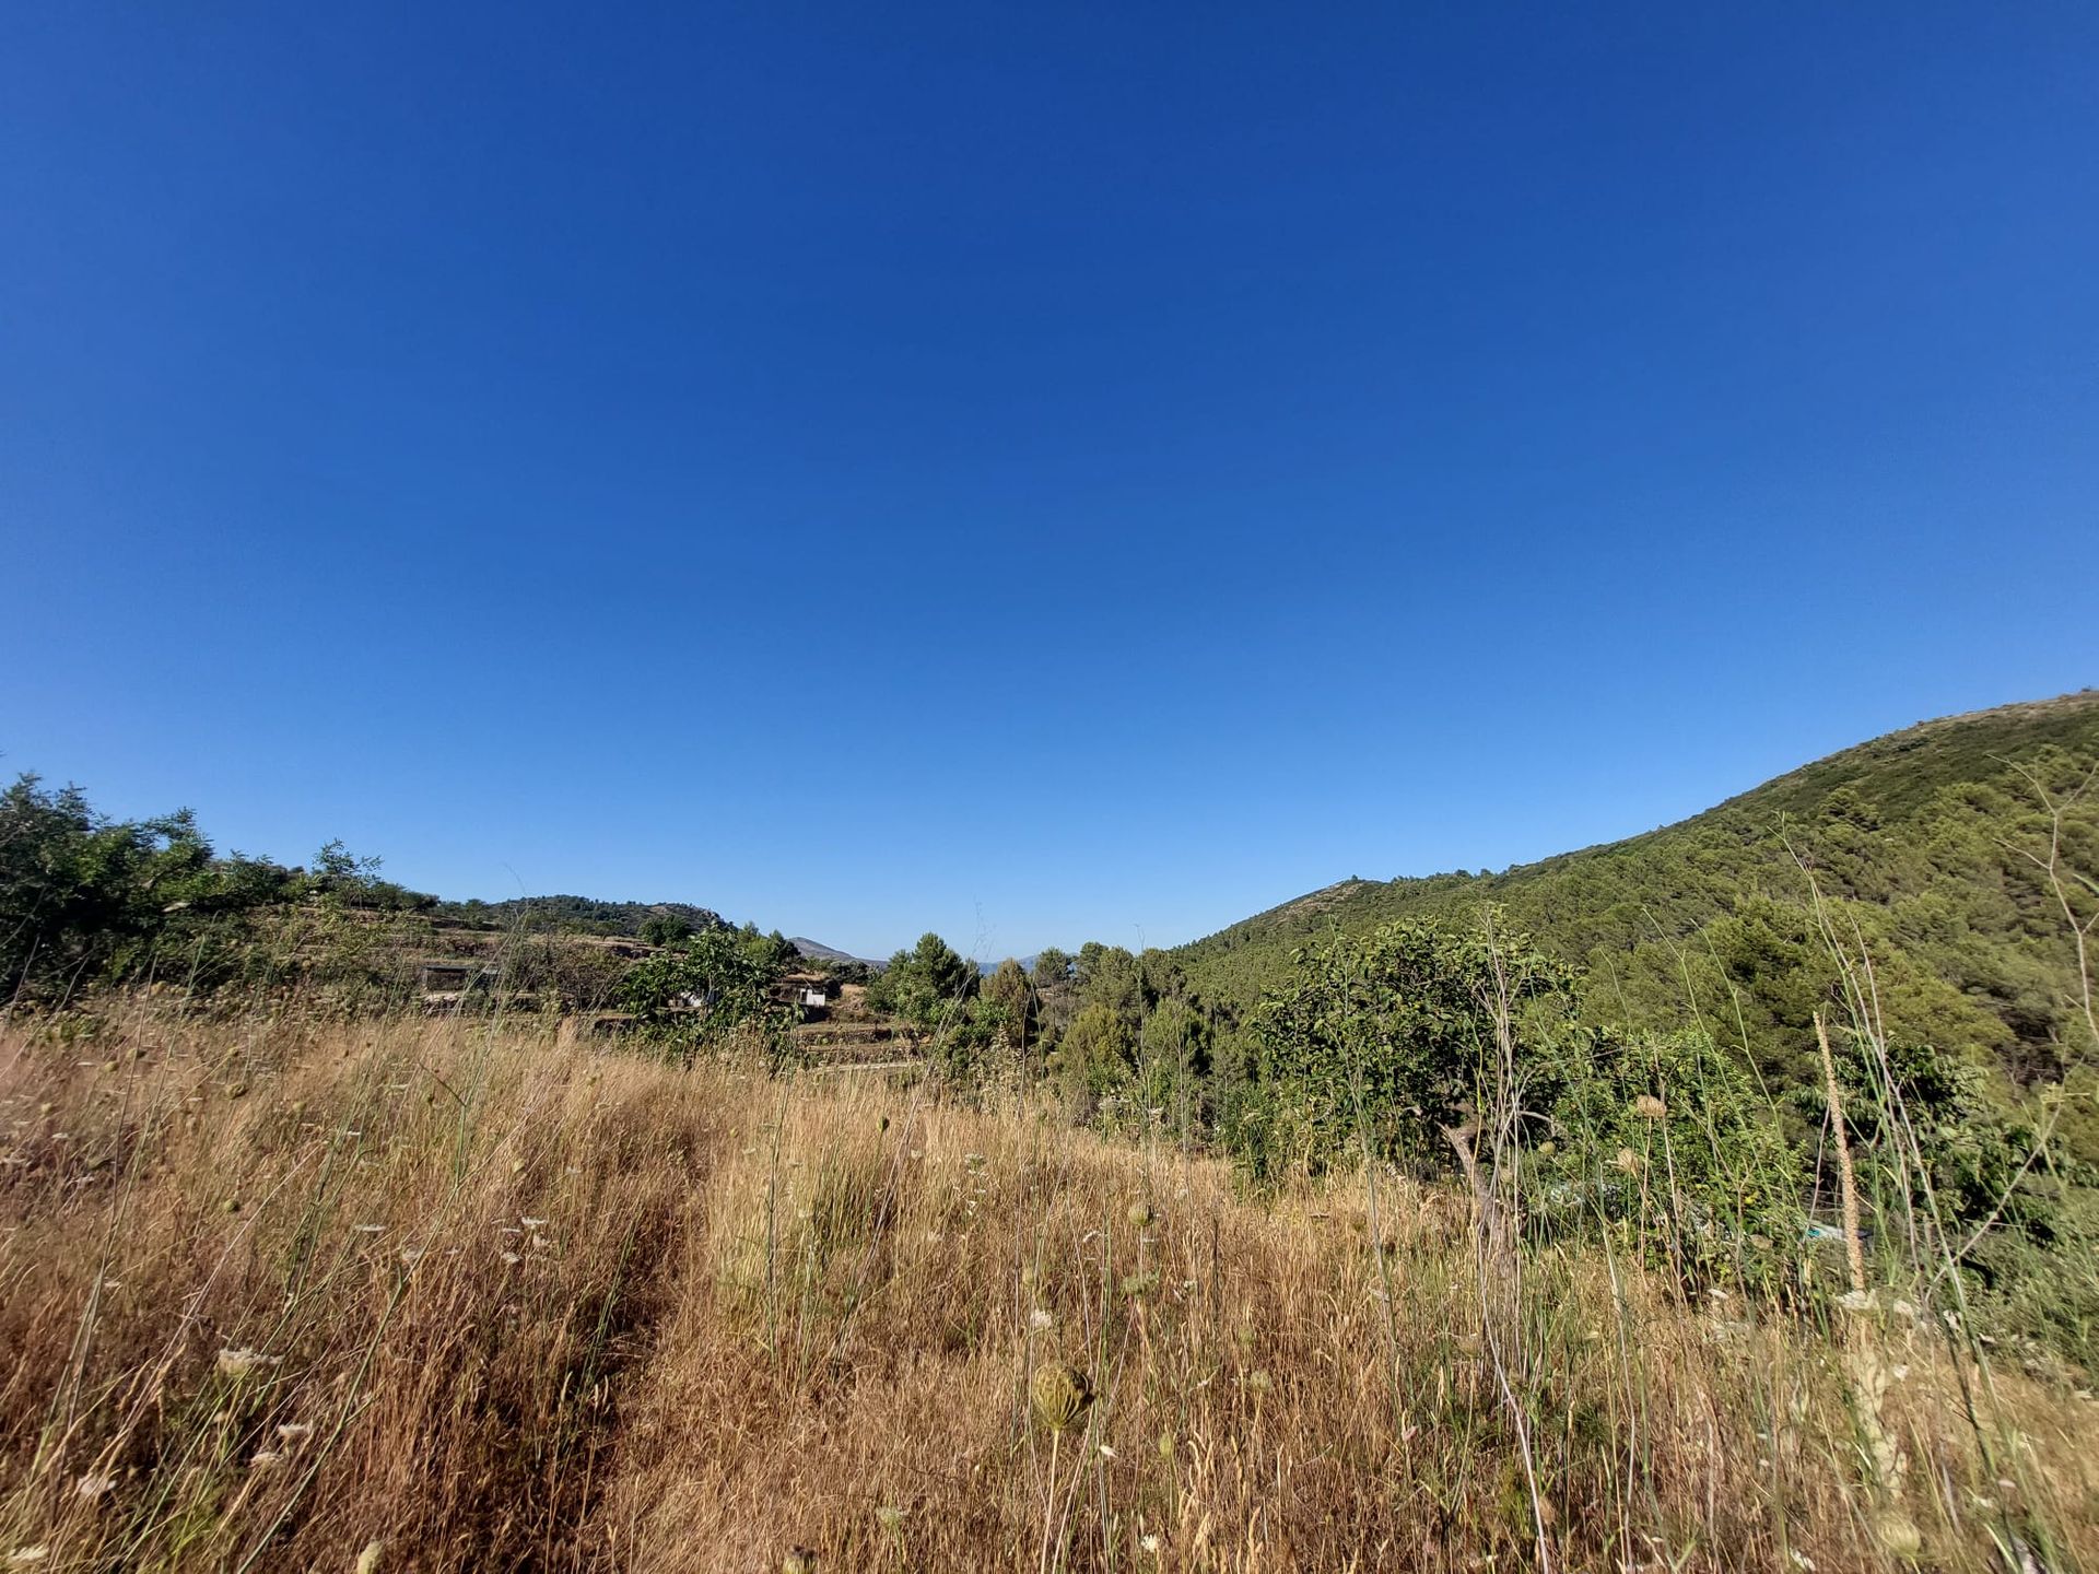
[(2099, 8), (0, 13), (0, 770), (1178, 942), (2099, 682)]

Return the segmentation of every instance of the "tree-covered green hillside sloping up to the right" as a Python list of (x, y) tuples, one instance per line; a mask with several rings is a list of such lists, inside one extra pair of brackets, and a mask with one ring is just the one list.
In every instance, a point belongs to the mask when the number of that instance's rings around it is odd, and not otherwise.
[[(1814, 1012), (1847, 1009), (1845, 953), (1891, 1037), (1988, 1062), (2017, 1098), (2089, 1045), (2072, 930), (2026, 854), (2044, 858), (2053, 800), (2068, 867), (2099, 869), (2099, 787), (2076, 797), (2095, 760), (2099, 690), (1925, 722), (1660, 831), (1499, 875), (1341, 881), (1175, 959), (1209, 999), (1245, 1005), (1320, 934), (1499, 907), (1587, 967), (1599, 1014), (1669, 1026), (1694, 1012), (1790, 1081)], [(2063, 886), (2089, 917), (2091, 888)], [(2070, 1127), (2099, 1152), (2089, 1110)]]

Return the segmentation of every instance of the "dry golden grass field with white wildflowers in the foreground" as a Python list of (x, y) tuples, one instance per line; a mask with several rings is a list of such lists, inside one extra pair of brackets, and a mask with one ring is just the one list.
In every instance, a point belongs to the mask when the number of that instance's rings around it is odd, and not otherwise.
[(1482, 1297), (1392, 1179), (447, 1022), (17, 1026), (0, 1131), (0, 1568), (2099, 1559), (2089, 1400), (1625, 1253)]

